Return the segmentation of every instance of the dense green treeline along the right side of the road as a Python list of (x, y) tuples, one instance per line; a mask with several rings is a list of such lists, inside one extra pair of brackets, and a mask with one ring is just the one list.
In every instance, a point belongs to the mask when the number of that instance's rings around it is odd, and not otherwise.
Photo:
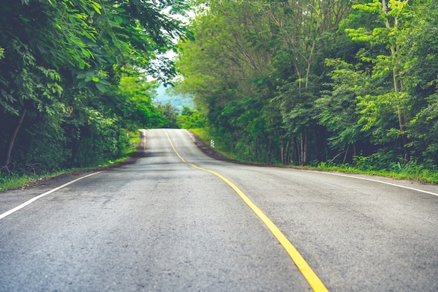
[(216, 145), (259, 162), (438, 163), (435, 0), (211, 0), (180, 92)]

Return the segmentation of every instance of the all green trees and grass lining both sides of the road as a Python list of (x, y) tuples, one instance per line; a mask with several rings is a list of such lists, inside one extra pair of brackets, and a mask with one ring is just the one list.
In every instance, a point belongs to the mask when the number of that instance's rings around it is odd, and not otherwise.
[[(0, 190), (160, 127), (235, 160), (438, 182), (435, 0), (160, 4), (0, 3)], [(155, 102), (159, 83), (196, 109)]]

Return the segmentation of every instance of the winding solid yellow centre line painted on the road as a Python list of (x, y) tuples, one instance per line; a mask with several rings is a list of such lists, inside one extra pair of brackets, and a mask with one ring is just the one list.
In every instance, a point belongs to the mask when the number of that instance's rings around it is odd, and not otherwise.
[(213, 172), (213, 170), (198, 167), (197, 165), (194, 165), (188, 161), (186, 161), (181, 155), (176, 151), (176, 148), (174, 147), (174, 144), (172, 143), (169, 134), (167, 134), (167, 131), (164, 130), (164, 133), (166, 133), (167, 139), (169, 139), (170, 146), (172, 149), (174, 149), (174, 152), (180, 158), (183, 162), (187, 163), (188, 165), (195, 167), (196, 169), (203, 170), (204, 172), (210, 172), (211, 174), (214, 174), (218, 176), (222, 181), (225, 181), (225, 183), (228, 184), (243, 200), (243, 202), (246, 202), (248, 207), (254, 211), (254, 213), (262, 220), (264, 225), (267, 225), (267, 228), (271, 231), (271, 233), (276, 237), (278, 242), (283, 246), (285, 251), (289, 254), (290, 258), (292, 258), (295, 265), (297, 265), (300, 272), (302, 272), (304, 278), (307, 280), (313, 291), (315, 292), (328, 292), (328, 289), (323, 284), (323, 281), (319, 279), (319, 277), (316, 275), (315, 272), (311, 269), (310, 265), (304, 260), (301, 253), (297, 251), (295, 246), (290, 243), (289, 239), (285, 237), (283, 232), (281, 232), (280, 229), (269, 219), (262, 210), (260, 210), (239, 188), (234, 185), (231, 181), (229, 181), (225, 176), (222, 176), (221, 174), (218, 174), (218, 172)]

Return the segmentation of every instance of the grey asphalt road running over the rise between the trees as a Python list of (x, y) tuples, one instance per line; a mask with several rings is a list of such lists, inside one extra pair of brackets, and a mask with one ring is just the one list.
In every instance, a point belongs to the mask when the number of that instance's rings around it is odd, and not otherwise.
[(166, 133), (257, 205), (328, 291), (438, 291), (438, 186), (213, 160), (184, 130), (148, 130), (145, 158), (3, 218), (76, 177), (0, 193), (0, 291), (313, 291), (246, 202)]

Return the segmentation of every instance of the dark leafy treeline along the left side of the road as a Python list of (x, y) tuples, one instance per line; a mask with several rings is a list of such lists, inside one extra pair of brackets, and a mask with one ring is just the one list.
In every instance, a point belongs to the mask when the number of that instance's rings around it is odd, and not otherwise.
[(95, 165), (119, 158), (127, 131), (174, 127), (156, 82), (157, 58), (186, 34), (185, 1), (0, 2), (0, 168), (4, 173)]

